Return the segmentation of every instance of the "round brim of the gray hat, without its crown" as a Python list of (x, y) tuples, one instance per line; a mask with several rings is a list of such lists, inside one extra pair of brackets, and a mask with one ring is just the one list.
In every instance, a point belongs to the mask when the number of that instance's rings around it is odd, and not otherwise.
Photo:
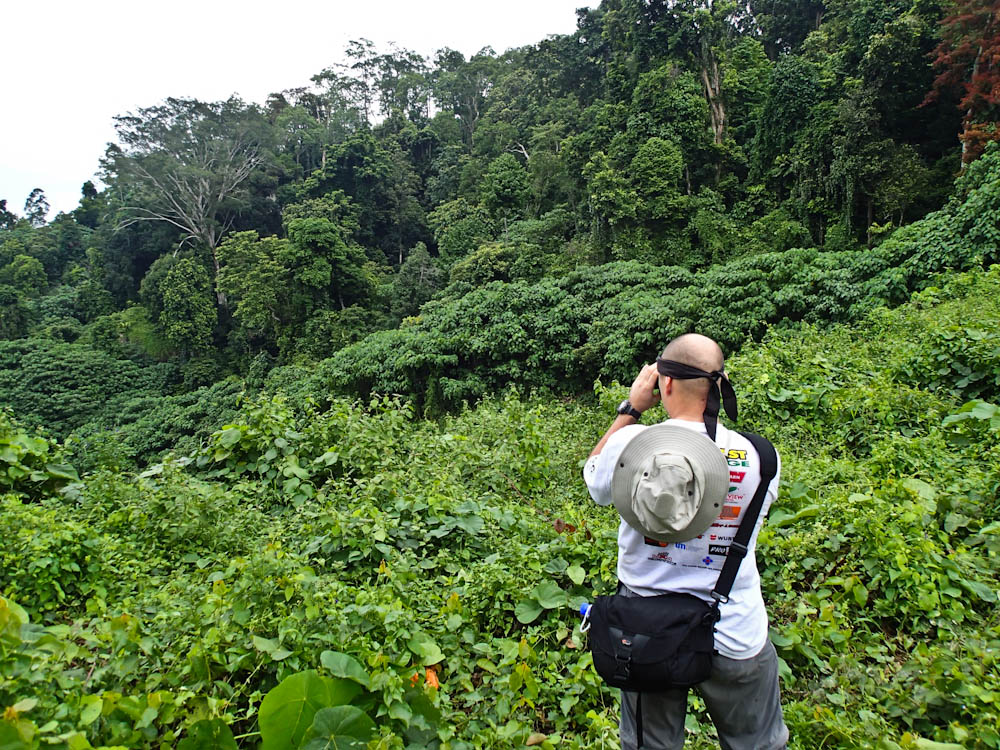
[[(691, 522), (674, 534), (651, 533), (632, 510), (633, 478), (650, 456), (684, 456), (702, 468), (701, 505)], [(703, 534), (722, 513), (729, 489), (729, 465), (715, 441), (700, 432), (671, 424), (646, 428), (625, 444), (611, 475), (611, 501), (622, 519), (643, 536), (658, 542), (686, 542)]]

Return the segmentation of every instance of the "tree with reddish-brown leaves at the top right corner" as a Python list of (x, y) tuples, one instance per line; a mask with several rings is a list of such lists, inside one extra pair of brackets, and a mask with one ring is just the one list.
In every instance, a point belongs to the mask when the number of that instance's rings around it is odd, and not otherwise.
[(1000, 0), (954, 0), (941, 20), (934, 50), (940, 72), (927, 102), (942, 93), (961, 95), (962, 163), (975, 160), (988, 141), (1000, 140)]

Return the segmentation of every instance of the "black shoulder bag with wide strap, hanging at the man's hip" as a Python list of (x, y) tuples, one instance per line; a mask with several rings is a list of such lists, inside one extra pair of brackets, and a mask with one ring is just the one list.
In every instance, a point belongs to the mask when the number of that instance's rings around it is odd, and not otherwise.
[(686, 688), (707, 680), (715, 652), (719, 604), (729, 601), (747, 553), (767, 488), (778, 470), (778, 455), (765, 438), (741, 433), (760, 456), (760, 486), (729, 545), (712, 590), (712, 603), (691, 594), (599, 596), (590, 609), (590, 651), (594, 667), (612, 687), (637, 692)]

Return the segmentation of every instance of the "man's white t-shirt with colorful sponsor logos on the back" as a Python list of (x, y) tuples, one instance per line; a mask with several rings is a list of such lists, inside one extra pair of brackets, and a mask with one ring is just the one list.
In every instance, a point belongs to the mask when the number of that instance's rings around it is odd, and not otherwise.
[[(666, 424), (678, 425), (707, 435), (702, 422), (668, 419)], [(615, 432), (604, 449), (588, 459), (583, 469), (590, 496), (598, 505), (611, 505), (611, 475), (625, 444), (644, 425), (627, 425)], [(760, 484), (760, 456), (753, 444), (738, 432), (718, 425), (715, 442), (729, 463), (729, 492), (722, 513), (704, 534), (689, 541), (666, 544), (646, 540), (625, 521), (618, 527), (618, 579), (641, 596), (656, 596), (666, 591), (693, 594), (711, 601), (710, 592), (719, 578), (726, 560), (729, 543), (736, 536), (743, 511), (750, 504)], [(715, 648), (731, 659), (750, 659), (767, 642), (767, 612), (760, 593), (757, 572), (757, 532), (760, 531), (768, 508), (778, 494), (781, 459), (778, 472), (764, 497), (757, 525), (750, 537), (746, 557), (740, 565), (729, 593), (729, 601), (721, 605), (722, 619), (716, 626)]]

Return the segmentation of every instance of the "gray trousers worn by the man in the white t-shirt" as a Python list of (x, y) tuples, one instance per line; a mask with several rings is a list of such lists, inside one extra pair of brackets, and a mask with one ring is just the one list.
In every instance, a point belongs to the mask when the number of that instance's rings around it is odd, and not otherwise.
[[(779, 750), (788, 743), (778, 694), (778, 654), (770, 641), (752, 659), (715, 654), (712, 675), (695, 690), (705, 701), (723, 750)], [(639, 698), (639, 693), (622, 691), (622, 750), (638, 750)], [(683, 747), (687, 690), (642, 693), (641, 700), (643, 750)]]

